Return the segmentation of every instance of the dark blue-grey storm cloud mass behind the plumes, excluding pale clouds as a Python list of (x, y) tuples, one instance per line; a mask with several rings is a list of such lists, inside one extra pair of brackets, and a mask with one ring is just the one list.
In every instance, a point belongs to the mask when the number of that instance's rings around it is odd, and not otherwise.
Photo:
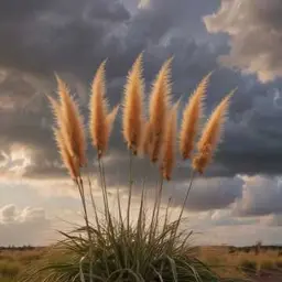
[[(208, 89), (206, 113), (225, 94), (239, 87), (232, 98), (216, 163), (206, 172), (208, 177), (230, 176), (230, 183), (224, 178), (210, 189), (203, 188), (203, 184), (194, 196), (192, 194), (191, 208), (220, 208), (234, 203), (242, 192), (242, 185), (231, 178), (238, 173), (281, 173), (282, 110), (278, 94), (282, 84), (275, 80), (261, 85), (253, 77), (220, 68), (217, 57), (227, 53), (228, 46), (220, 41), (209, 41), (200, 23), (200, 17), (215, 11), (218, 1), (154, 0), (151, 7), (134, 13), (110, 0), (30, 0), (23, 7), (19, 2), (19, 9), (13, 9), (15, 2), (0, 4), (0, 36), (4, 39), (0, 46), (0, 142), (4, 151), (9, 151), (13, 142), (32, 148), (33, 164), (28, 169), (28, 177), (65, 175), (57, 163), (52, 117), (43, 96), (54, 93), (53, 72), (62, 74), (76, 90), (87, 116), (88, 86), (98, 64), (109, 57), (108, 96), (115, 105), (120, 101), (129, 67), (142, 50), (148, 91), (161, 64), (171, 55), (174, 55), (173, 100), (183, 95), (186, 101), (199, 79), (212, 69), (216, 73)], [(110, 141), (112, 158), (106, 165), (109, 185), (127, 181), (128, 160), (120, 116)], [(134, 166), (139, 183), (143, 175), (149, 185), (155, 183), (156, 169), (148, 161), (137, 161)], [(183, 198), (187, 176), (188, 170), (184, 166), (174, 173), (172, 185), (180, 187), (175, 193), (177, 203)], [(219, 196), (210, 197), (217, 186), (223, 187)]]

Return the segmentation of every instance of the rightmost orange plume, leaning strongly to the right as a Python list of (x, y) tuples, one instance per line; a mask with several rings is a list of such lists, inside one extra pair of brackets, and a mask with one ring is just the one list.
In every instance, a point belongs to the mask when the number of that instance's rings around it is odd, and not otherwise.
[(203, 130), (203, 134), (197, 144), (198, 154), (194, 158), (192, 164), (193, 169), (200, 174), (203, 174), (206, 166), (210, 163), (216, 147), (220, 141), (228, 106), (234, 93), (235, 90), (227, 95), (216, 107)]

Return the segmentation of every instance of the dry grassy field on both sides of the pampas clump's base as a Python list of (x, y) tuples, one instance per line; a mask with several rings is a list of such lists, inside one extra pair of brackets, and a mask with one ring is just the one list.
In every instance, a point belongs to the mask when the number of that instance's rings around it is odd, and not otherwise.
[[(14, 278), (30, 263), (39, 261), (46, 249), (0, 249), (0, 282)], [(224, 278), (245, 278), (253, 282), (282, 281), (282, 249), (262, 248), (256, 256), (253, 249), (229, 247), (200, 247), (198, 257)]]

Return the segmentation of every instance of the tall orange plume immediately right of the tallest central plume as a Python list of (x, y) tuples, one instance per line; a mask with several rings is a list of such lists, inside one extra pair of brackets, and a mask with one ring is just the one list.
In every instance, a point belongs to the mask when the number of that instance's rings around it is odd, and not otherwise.
[(163, 149), (165, 123), (171, 96), (171, 62), (169, 58), (161, 67), (152, 87), (150, 98), (150, 127), (152, 132), (151, 161), (155, 163)]

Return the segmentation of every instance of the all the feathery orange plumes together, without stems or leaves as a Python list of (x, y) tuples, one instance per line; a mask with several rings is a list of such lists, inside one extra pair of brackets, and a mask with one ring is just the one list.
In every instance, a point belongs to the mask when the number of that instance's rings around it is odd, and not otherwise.
[[(161, 174), (167, 181), (172, 177), (175, 164), (176, 140), (178, 140), (182, 159), (192, 159), (193, 170), (199, 173), (204, 172), (219, 142), (232, 95), (224, 98), (209, 117), (197, 142), (197, 153), (194, 155), (195, 142), (200, 133), (204, 100), (212, 73), (199, 82), (185, 105), (177, 137), (180, 101), (171, 106), (172, 59), (171, 57), (164, 62), (155, 76), (151, 88), (147, 120), (144, 117), (143, 53), (137, 57), (129, 70), (122, 105), (122, 134), (129, 150), (133, 154), (144, 152), (152, 163), (160, 163)], [(89, 101), (89, 133), (98, 159), (106, 154), (112, 124), (119, 109), (119, 106), (116, 106), (109, 112), (106, 99), (106, 62), (100, 64), (95, 74)], [(72, 177), (75, 178), (79, 174), (79, 167), (86, 165), (83, 119), (66, 84), (58, 76), (56, 78), (59, 100), (48, 97), (57, 121), (54, 134), (63, 162)]]

